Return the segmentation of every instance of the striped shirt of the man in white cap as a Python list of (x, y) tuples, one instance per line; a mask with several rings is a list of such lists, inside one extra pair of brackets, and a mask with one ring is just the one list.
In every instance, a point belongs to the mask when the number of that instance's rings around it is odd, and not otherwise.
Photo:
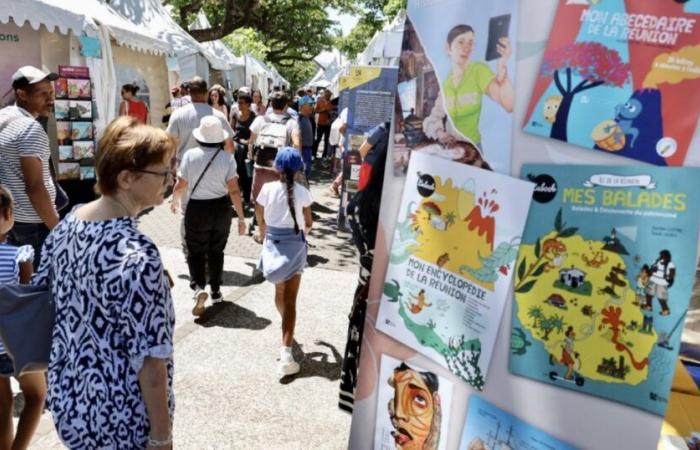
[(20, 158), (34, 157), (41, 160), (44, 186), (53, 202), (56, 187), (49, 170), (50, 156), (49, 136), (31, 114), (16, 105), (0, 110), (0, 183), (12, 192), (17, 222), (43, 222), (29, 201)]

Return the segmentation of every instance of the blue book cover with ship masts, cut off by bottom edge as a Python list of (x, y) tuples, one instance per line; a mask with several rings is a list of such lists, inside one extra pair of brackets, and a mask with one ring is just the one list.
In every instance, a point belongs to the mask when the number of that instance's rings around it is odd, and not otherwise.
[(464, 450), (575, 450), (576, 447), (472, 395), (459, 445)]

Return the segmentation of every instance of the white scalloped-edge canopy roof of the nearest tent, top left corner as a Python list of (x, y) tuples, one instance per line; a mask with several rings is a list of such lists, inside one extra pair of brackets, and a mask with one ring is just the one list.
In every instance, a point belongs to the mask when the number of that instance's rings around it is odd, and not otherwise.
[(168, 46), (147, 29), (139, 29), (115, 12), (101, 0), (0, 0), (0, 22), (12, 19), (22, 26), (28, 22), (38, 30), (44, 25), (48, 30), (58, 29), (76, 36), (83, 32), (94, 35), (97, 24), (104, 25), (117, 44), (148, 53), (167, 53)]

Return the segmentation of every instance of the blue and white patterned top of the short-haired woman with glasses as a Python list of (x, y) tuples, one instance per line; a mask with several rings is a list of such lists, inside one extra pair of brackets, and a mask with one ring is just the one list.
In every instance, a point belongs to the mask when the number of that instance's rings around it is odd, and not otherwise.
[(87, 222), (70, 213), (51, 232), (34, 284), (56, 302), (48, 406), (71, 449), (146, 447), (149, 421), (138, 373), (167, 363), (174, 401), (175, 312), (155, 244), (123, 217)]

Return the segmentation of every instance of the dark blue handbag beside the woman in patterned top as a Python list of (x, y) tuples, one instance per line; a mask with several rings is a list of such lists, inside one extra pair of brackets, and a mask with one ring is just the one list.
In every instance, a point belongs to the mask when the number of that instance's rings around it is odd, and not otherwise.
[(15, 365), (15, 377), (49, 366), (56, 317), (47, 286), (0, 286), (0, 337)]

